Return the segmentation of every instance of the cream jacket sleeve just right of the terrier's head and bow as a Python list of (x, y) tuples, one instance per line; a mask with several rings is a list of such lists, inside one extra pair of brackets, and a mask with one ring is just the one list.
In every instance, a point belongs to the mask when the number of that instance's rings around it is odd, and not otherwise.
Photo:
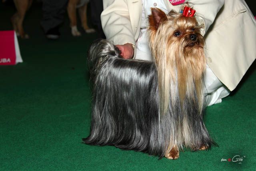
[(224, 4), (224, 0), (186, 0), (186, 2), (191, 3), (196, 10), (198, 23), (204, 27), (201, 30), (202, 35), (206, 34)]

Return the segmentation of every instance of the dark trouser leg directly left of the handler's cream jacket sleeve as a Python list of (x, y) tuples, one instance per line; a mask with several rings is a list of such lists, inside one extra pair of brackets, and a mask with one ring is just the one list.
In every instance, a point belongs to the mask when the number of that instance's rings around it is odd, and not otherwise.
[(101, 26), (100, 14), (103, 11), (102, 0), (90, 0), (92, 24), (96, 26), (100, 38), (106, 38)]

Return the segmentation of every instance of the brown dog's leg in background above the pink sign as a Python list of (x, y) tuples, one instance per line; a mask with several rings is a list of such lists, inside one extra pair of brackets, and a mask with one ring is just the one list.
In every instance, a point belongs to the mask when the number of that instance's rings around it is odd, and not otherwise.
[[(5, 0), (3, 0), (4, 2)], [(23, 20), (27, 10), (30, 8), (33, 0), (13, 0), (17, 12), (15, 12), (11, 18), (12, 26), (17, 34), (21, 38), (29, 38), (28, 34), (24, 32), (23, 29)]]

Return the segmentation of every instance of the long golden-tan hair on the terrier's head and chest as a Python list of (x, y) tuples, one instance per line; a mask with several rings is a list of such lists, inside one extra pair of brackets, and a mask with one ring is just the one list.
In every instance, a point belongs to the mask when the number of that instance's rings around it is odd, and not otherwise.
[[(202, 106), (202, 76), (206, 61), (204, 39), (196, 18), (175, 11), (165, 14), (158, 8), (151, 10), (148, 34), (158, 71), (160, 112), (167, 112), (170, 99), (172, 105), (178, 101), (183, 105), (182, 101), (190, 97)], [(177, 95), (178, 101), (174, 99)]]

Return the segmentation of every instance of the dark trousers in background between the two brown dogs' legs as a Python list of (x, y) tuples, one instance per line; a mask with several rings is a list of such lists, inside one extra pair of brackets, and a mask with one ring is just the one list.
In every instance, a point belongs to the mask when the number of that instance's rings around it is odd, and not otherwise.
[(64, 21), (68, 0), (42, 0), (42, 3), (41, 26), (47, 32)]

